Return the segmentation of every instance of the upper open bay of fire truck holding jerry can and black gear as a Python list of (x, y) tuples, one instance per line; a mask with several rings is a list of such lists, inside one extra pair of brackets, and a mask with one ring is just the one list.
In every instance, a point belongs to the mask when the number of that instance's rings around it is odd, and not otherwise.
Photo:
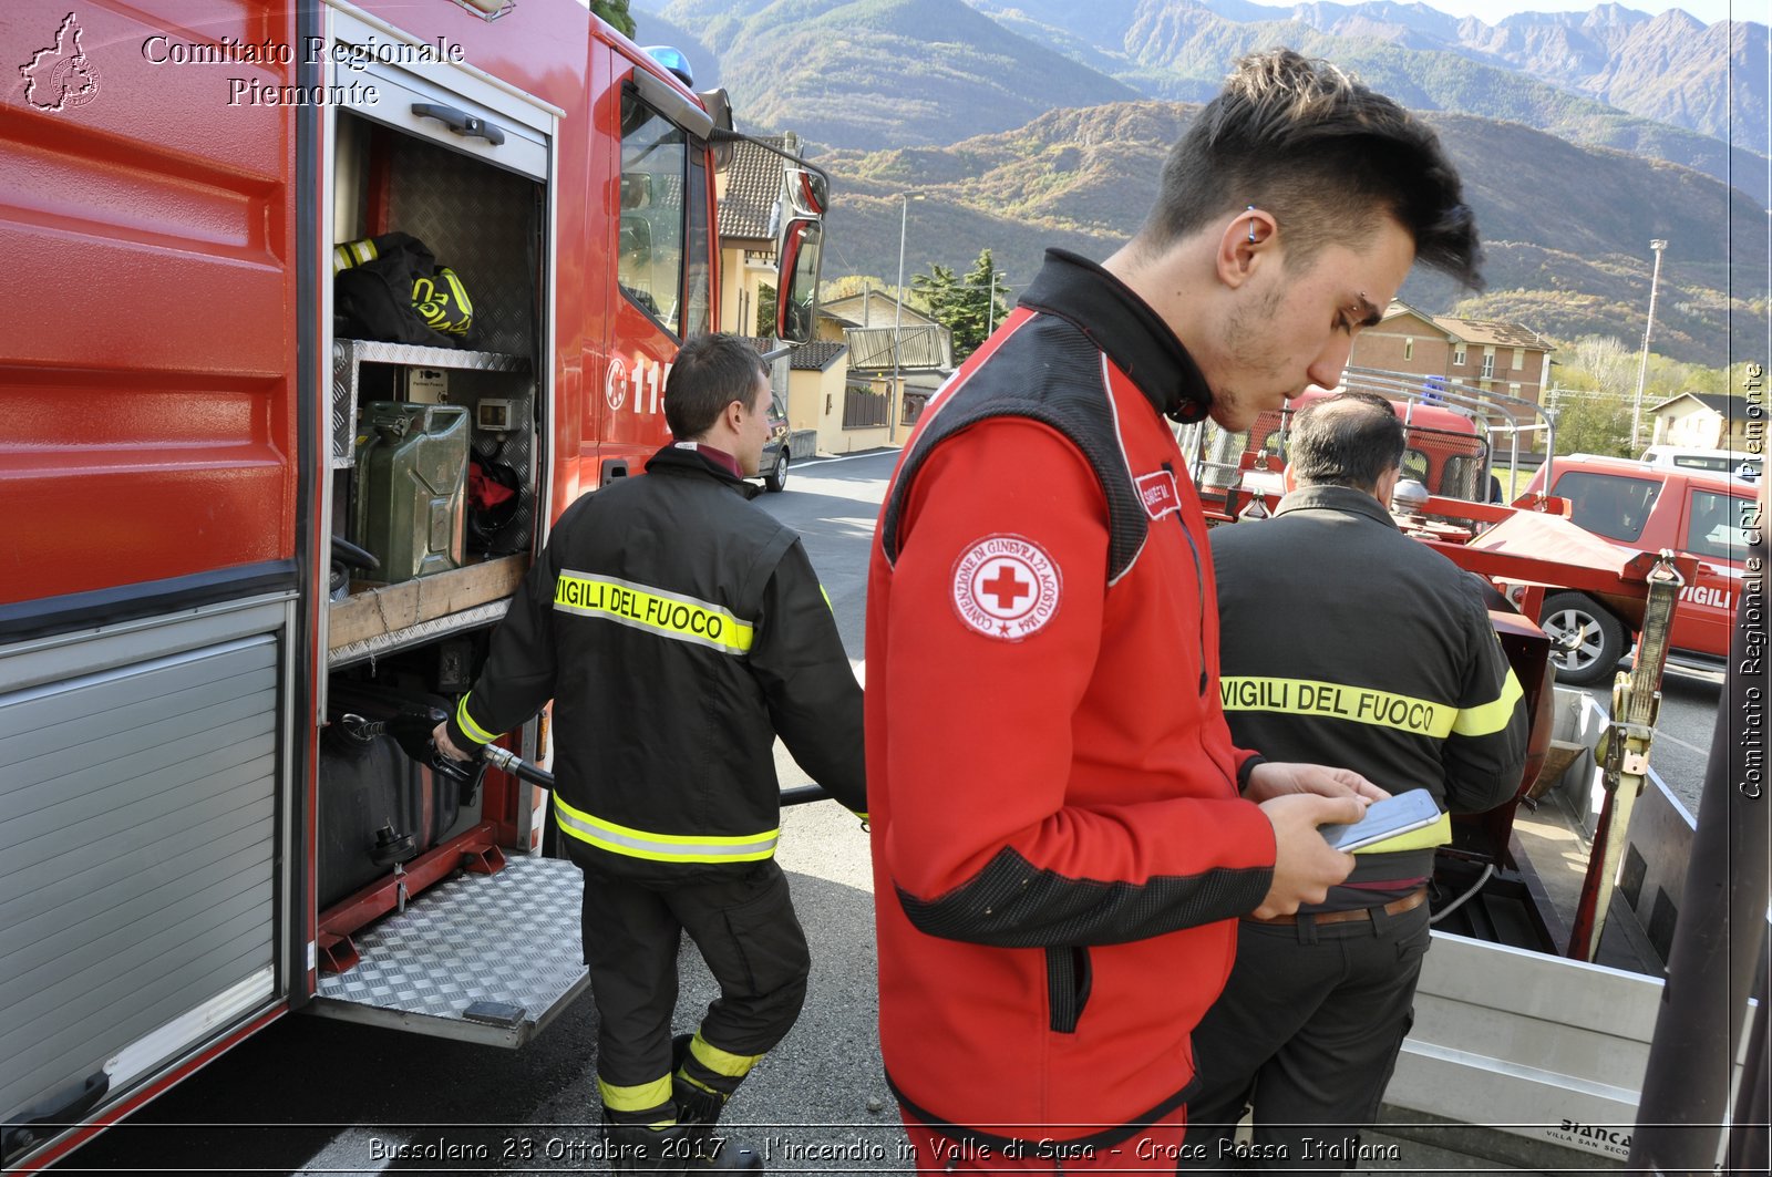
[[(411, 105), (448, 103), (480, 117), (468, 96), (385, 69), (395, 74), (390, 85), (424, 87), (422, 96), (432, 99)], [(365, 110), (386, 117), (388, 103)], [(484, 117), (512, 124), (509, 113)], [(447, 128), (438, 119), (390, 126), (351, 110), (337, 113), (333, 241), (416, 238), (459, 275), (471, 324), (462, 347), (448, 346), (443, 333), (434, 333), (434, 346), (333, 339), (331, 532), (385, 567), (351, 567), (349, 581), (333, 588), (331, 666), (496, 620), (501, 608), (486, 606), (510, 594), (537, 534), (546, 480), (539, 452), (546, 399), (537, 372), (548, 289), (548, 140), (540, 138), (539, 152), (494, 161), (480, 156), (512, 142), (528, 147), (528, 140), (468, 140), (464, 149), (436, 142), (462, 138)], [(477, 473), (484, 480), (496, 473), (501, 502), (475, 503)]]

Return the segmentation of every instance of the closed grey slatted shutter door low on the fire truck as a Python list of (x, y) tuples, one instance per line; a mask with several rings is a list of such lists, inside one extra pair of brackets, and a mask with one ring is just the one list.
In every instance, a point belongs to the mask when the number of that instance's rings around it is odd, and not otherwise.
[(7, 1122), (122, 1097), (284, 989), (284, 633), (266, 601), (0, 656)]

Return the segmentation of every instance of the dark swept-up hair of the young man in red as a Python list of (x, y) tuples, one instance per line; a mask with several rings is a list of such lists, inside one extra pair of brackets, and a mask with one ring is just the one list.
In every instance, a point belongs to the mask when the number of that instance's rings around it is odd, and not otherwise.
[(1294, 261), (1366, 241), (1387, 213), (1418, 261), (1483, 287), (1476, 218), (1439, 135), (1325, 60), (1239, 60), (1170, 151), (1139, 236), (1161, 248), (1247, 206), (1272, 213)]

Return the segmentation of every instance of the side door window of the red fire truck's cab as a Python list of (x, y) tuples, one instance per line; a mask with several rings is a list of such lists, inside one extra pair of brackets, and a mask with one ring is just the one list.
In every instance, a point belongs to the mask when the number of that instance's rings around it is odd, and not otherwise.
[[(688, 136), (622, 94), (622, 223), (615, 280), (631, 303), (677, 333), (684, 280)], [(705, 278), (703, 278), (705, 282)]]

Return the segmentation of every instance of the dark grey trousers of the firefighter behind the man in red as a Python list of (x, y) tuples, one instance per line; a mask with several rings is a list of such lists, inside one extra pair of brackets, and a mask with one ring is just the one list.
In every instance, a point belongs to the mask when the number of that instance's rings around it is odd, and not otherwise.
[[(1324, 925), (1242, 920), (1224, 994), (1194, 1030), (1201, 1088), (1182, 1168), (1347, 1168), (1409, 1033), (1426, 950), (1426, 904)], [(1235, 1145), (1246, 1101), (1255, 1138)]]

